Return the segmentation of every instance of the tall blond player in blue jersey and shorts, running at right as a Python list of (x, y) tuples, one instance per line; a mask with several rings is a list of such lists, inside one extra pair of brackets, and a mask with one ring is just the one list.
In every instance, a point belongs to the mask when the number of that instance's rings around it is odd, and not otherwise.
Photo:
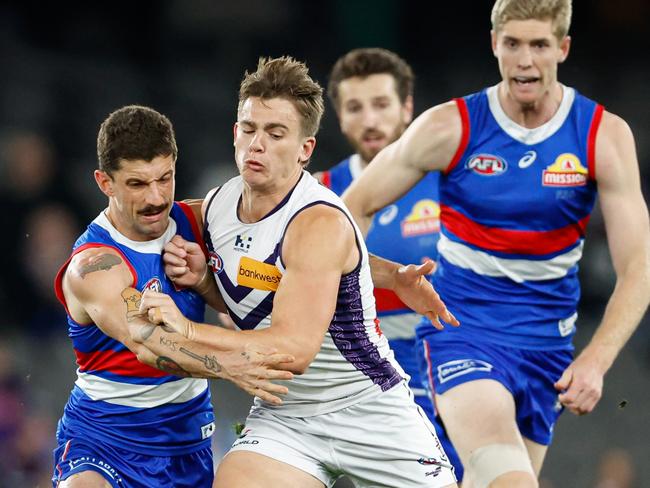
[[(650, 299), (648, 211), (641, 193), (634, 138), (630, 128), (620, 117), (607, 111), (599, 112), (602, 108), (594, 110), (593, 102), (589, 104), (582, 97), (582, 106), (591, 107), (591, 111), (581, 119), (582, 137), (555, 137), (555, 130), (561, 136), (561, 131), (558, 130), (561, 129), (559, 119), (567, 117), (563, 106), (568, 103), (562, 102), (569, 100), (574, 93), (573, 89), (563, 86), (557, 79), (558, 65), (567, 58), (571, 44), (571, 38), (567, 35), (570, 19), (571, 0), (497, 0), (492, 11), (492, 49), (498, 60), (502, 81), (496, 87), (487, 89), (487, 97), (490, 98), (489, 109), (484, 109), (482, 114), (477, 114), (477, 110), (468, 117), (467, 111), (463, 110), (466, 107), (463, 100), (469, 97), (465, 97), (427, 110), (410, 125), (398, 141), (377, 155), (343, 198), (359, 226), (367, 229), (378, 209), (391, 204), (409, 191), (427, 172), (442, 171), (442, 237), (438, 246), (442, 264), (438, 269), (446, 266), (447, 272), (434, 277), (437, 291), (445, 300), (449, 300), (452, 295), (451, 292), (446, 293), (445, 288), (452, 289), (458, 280), (449, 278), (449, 270), (452, 270), (455, 276), (476, 278), (466, 281), (464, 293), (458, 287), (453, 288), (453, 296), (463, 300), (462, 308), (466, 310), (466, 313), (462, 313), (461, 310), (454, 309), (454, 313), (465, 326), (469, 322), (467, 317), (476, 315), (476, 304), (481, 303), (478, 297), (485, 296), (490, 291), (494, 294), (492, 300), (485, 300), (486, 314), (481, 315), (483, 320), (479, 324), (483, 327), (485, 337), (478, 335), (474, 338), (476, 340), (470, 343), (462, 339), (469, 328), (460, 327), (456, 334), (457, 339), (454, 340), (463, 341), (464, 344), (460, 346), (462, 349), (459, 349), (463, 356), (440, 364), (437, 374), (433, 374), (436, 377), (435, 400), (438, 411), (466, 469), (463, 486), (538, 486), (537, 476), (560, 410), (566, 407), (571, 412), (582, 415), (595, 408), (601, 398), (605, 373), (637, 328)], [(474, 96), (471, 101), (474, 102), (479, 97), (485, 98), (485, 93), (482, 93), (483, 95)], [(576, 95), (576, 101), (578, 98)], [(483, 107), (487, 106), (487, 102), (482, 103)], [(481, 119), (485, 113), (489, 116)], [(495, 113), (496, 118), (492, 116)], [(572, 113), (575, 113), (573, 107)], [(595, 115), (592, 116), (592, 113)], [(476, 123), (476, 120), (481, 122)], [(586, 126), (590, 120), (595, 120), (592, 127), (596, 128), (587, 137)], [(469, 124), (472, 123), (475, 125), (470, 128)], [(491, 125), (488, 127), (488, 124)], [(578, 127), (578, 124), (567, 127), (567, 133), (570, 129), (575, 130), (575, 127)], [(504, 132), (507, 132), (507, 135), (503, 136), (504, 143), (500, 148), (481, 149), (490, 144), (499, 133)], [(528, 139), (524, 139), (526, 136), (529, 136)], [(467, 147), (468, 139), (474, 141), (470, 142), (474, 144), (474, 152), (468, 150), (465, 157), (464, 148)], [(544, 143), (544, 146), (535, 146), (537, 142)], [(481, 148), (476, 149), (479, 144), (482, 144)], [(509, 164), (506, 165), (502, 155), (508, 147), (513, 147), (513, 144), (521, 144), (518, 146), (521, 147), (520, 153), (515, 156), (517, 159), (510, 158)], [(569, 146), (570, 144), (572, 146)], [(566, 156), (562, 151), (563, 146), (588, 146), (589, 150), (582, 152), (584, 167), (579, 162), (574, 164), (577, 159), (570, 154), (572, 159), (570, 158), (571, 161), (565, 169), (553, 174), (553, 161), (557, 158), (556, 166), (559, 166), (560, 156)], [(552, 159), (550, 154), (544, 158), (535, 158), (537, 152), (545, 148), (549, 148), (549, 152), (550, 148), (557, 151)], [(571, 153), (574, 151), (569, 150)], [(587, 163), (589, 170), (586, 169)], [(546, 179), (545, 169), (546, 173), (551, 173)], [(532, 172), (535, 172), (534, 178), (530, 177)], [(489, 185), (496, 188), (496, 182), (505, 180), (506, 176), (501, 175), (518, 175), (517, 184), (504, 184), (501, 187), (501, 195), (495, 190), (495, 195), (489, 195), (470, 208), (472, 195), (477, 197), (476, 200), (480, 200), (480, 196), (485, 195), (482, 189)], [(490, 310), (493, 311), (493, 316), (500, 309), (513, 310), (513, 307), (521, 303), (521, 296), (534, 294), (535, 290), (545, 285), (559, 285), (567, 276), (574, 280), (571, 288), (578, 288), (575, 284), (576, 263), (572, 256), (567, 253), (570, 259), (560, 263), (560, 258), (553, 259), (559, 253), (554, 255), (538, 247), (538, 257), (547, 254), (548, 258), (545, 256), (542, 260), (535, 260), (533, 256), (532, 259), (520, 259), (517, 249), (521, 247), (517, 248), (517, 239), (534, 235), (535, 240), (531, 241), (531, 246), (541, 246), (545, 231), (556, 229), (548, 226), (548, 220), (544, 222), (547, 224), (545, 228), (533, 229), (535, 233), (521, 231), (527, 231), (536, 222), (543, 221), (545, 216), (541, 215), (541, 219), (536, 219), (537, 214), (546, 212), (548, 216), (560, 215), (561, 212), (551, 207), (567, 204), (567, 200), (561, 200), (562, 196), (568, 195), (574, 199), (574, 195), (578, 195), (580, 191), (595, 191), (596, 180), (617, 282), (602, 322), (590, 343), (572, 360), (570, 344), (562, 344), (561, 350), (550, 350), (552, 347), (509, 347), (506, 340), (512, 342), (515, 339), (512, 336), (506, 337), (507, 330), (503, 330), (498, 338), (502, 341), (501, 346), (496, 344), (496, 339), (488, 340), (492, 329), (495, 333), (498, 332), (502, 322), (500, 319), (490, 320)], [(458, 190), (461, 185), (459, 181), (472, 182), (474, 186), (470, 188), (468, 184), (462, 191), (445, 193), (452, 185), (457, 185), (454, 189)], [(526, 181), (530, 182), (529, 188), (523, 186)], [(511, 190), (527, 194), (520, 195), (519, 199), (509, 198), (513, 194)], [(543, 197), (548, 198), (548, 201), (540, 205)], [(595, 195), (589, 195), (589, 198), (592, 203)], [(450, 200), (454, 200), (453, 203)], [(493, 202), (500, 204), (499, 211), (493, 208)], [(520, 223), (519, 228), (513, 229), (513, 220), (510, 224), (506, 222), (498, 225), (505, 221), (501, 216), (507, 216), (509, 211), (508, 208), (503, 208), (505, 204), (502, 202), (507, 202), (513, 213), (521, 210), (522, 218), (514, 221), (515, 224)], [(588, 217), (587, 210), (590, 208), (586, 209), (587, 205), (582, 204), (580, 207), (581, 203), (577, 199), (571, 203), (574, 205), (573, 209), (585, 209)], [(468, 208), (470, 210), (467, 210)], [(465, 213), (461, 214), (461, 211)], [(469, 217), (475, 217), (480, 212), (483, 212), (481, 216), (484, 216), (484, 219), (473, 228), (477, 231), (474, 235), (480, 234), (481, 238), (471, 242), (471, 236), (465, 240), (452, 240), (446, 235), (456, 232), (455, 236), (458, 237), (463, 234), (470, 227), (465, 225), (469, 222)], [(528, 212), (528, 216), (523, 212)], [(464, 219), (463, 225), (455, 226), (461, 218)], [(584, 237), (582, 231), (575, 230), (578, 228), (578, 225), (565, 227), (568, 234), (573, 232), (575, 235), (574, 241), (568, 244), (577, 250), (576, 255), (579, 255)], [(634, 229), (634, 232), (630, 232), (630, 229)], [(492, 239), (496, 236), (501, 237)], [(502, 236), (509, 237), (503, 239)], [(507, 242), (509, 240), (511, 242)], [(465, 242), (471, 245), (466, 245)], [(552, 237), (547, 242), (554, 244)], [(495, 252), (490, 253), (491, 250)], [(528, 254), (534, 255), (534, 251), (533, 248), (533, 252)], [(506, 259), (508, 257), (512, 259)], [(544, 260), (547, 264), (544, 264)], [(560, 272), (551, 276), (554, 278), (552, 281), (545, 278), (542, 271), (545, 266), (552, 269), (554, 263), (560, 263), (563, 267), (553, 270), (559, 269)], [(565, 265), (566, 263), (568, 265)], [(527, 273), (524, 279), (520, 279), (519, 270)], [(534, 273), (535, 270), (540, 272)], [(571, 273), (567, 275), (569, 271)], [(486, 286), (488, 283), (494, 286)], [(508, 302), (499, 295), (504, 289), (511, 292), (511, 297), (519, 295)], [(545, 310), (558, 310), (563, 305), (563, 300), (577, 301), (578, 292), (576, 291), (575, 297), (569, 298), (566, 289), (567, 287), (558, 287), (555, 296), (548, 293), (546, 296), (552, 297), (553, 301), (545, 303)], [(540, 302), (543, 302), (543, 299), (544, 297), (541, 297)], [(451, 300), (447, 302), (449, 306), (451, 303)], [(532, 328), (537, 319), (535, 313), (521, 307), (520, 310), (521, 312), (510, 315), (519, 316), (524, 327)], [(575, 330), (575, 316), (565, 317), (567, 318), (564, 320), (555, 320), (554, 324), (548, 322), (550, 327), (546, 330), (549, 336), (556, 334), (554, 339), (557, 342), (570, 338), (570, 334)], [(418, 333), (420, 332), (418, 330)], [(443, 342), (446, 340), (445, 336), (452, 335), (431, 331), (429, 343), (435, 340), (440, 344), (436, 349), (431, 349), (431, 356), (440, 356), (446, 354), (445, 351), (457, 348), (456, 345), (450, 346), (448, 342)], [(531, 336), (522, 335), (517, 340), (523, 342)], [(491, 363), (491, 359), (485, 358), (489, 358), (489, 355), (495, 357), (495, 351), (503, 350), (503, 347), (508, 349), (505, 354), (507, 359), (502, 362), (503, 369), (494, 368), (496, 363)], [(467, 348), (472, 348), (473, 352), (466, 352)], [(538, 418), (528, 417), (521, 422), (522, 411), (530, 408), (530, 403), (520, 400), (525, 399), (527, 393), (522, 390), (515, 394), (513, 388), (506, 386), (507, 378), (511, 374), (523, 374), (524, 368), (512, 367), (512, 364), (515, 364), (515, 355), (535, 354), (540, 358), (537, 365), (532, 361), (533, 364), (525, 370), (531, 376), (537, 375), (538, 379), (543, 376), (542, 372), (549, 372), (546, 365), (540, 365), (539, 361), (551, 357), (559, 358), (564, 354), (566, 359), (563, 357), (557, 361), (560, 367), (543, 378), (543, 381), (524, 382), (524, 389), (530, 390), (530, 394), (534, 396), (534, 404), (539, 403), (542, 394), (549, 401), (544, 401), (544, 410), (539, 412), (541, 415), (538, 415)], [(470, 360), (468, 357), (476, 359)], [(539, 371), (541, 375), (535, 371)], [(460, 378), (467, 380), (460, 383)], [(441, 393), (441, 388), (450, 384), (451, 387)], [(531, 388), (531, 385), (535, 386)], [(538, 437), (535, 439), (531, 435), (531, 424), (539, 422), (539, 418), (543, 419), (545, 425), (543, 431), (537, 432)]]

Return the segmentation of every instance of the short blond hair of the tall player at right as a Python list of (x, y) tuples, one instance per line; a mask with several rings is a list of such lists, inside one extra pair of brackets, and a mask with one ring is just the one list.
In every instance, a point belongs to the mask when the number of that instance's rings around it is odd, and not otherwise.
[(496, 0), (492, 8), (492, 30), (499, 32), (509, 20), (551, 20), (559, 40), (569, 33), (571, 0)]

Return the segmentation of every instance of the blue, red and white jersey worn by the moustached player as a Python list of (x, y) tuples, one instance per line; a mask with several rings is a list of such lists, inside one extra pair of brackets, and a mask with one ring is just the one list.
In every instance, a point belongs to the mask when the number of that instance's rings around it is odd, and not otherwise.
[[(182, 203), (174, 203), (167, 231), (146, 242), (120, 234), (102, 212), (77, 240), (72, 255), (91, 247), (117, 250), (133, 274), (131, 286), (140, 292), (167, 293), (183, 315), (203, 321), (203, 299), (191, 290), (176, 290), (165, 276), (161, 253), (175, 234), (201, 242), (192, 211)], [(68, 263), (55, 282), (64, 306), (61, 281)], [(207, 380), (180, 378), (142, 364), (93, 323), (79, 324), (68, 316), (68, 334), (79, 368), (58, 435), (152, 456), (187, 454), (210, 446), (214, 414)]]

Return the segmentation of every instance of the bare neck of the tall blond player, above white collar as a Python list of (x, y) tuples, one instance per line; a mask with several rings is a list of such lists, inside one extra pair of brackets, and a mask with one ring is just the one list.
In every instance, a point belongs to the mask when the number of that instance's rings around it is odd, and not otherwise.
[(515, 100), (503, 83), (499, 84), (497, 93), (499, 104), (508, 118), (522, 127), (535, 129), (553, 118), (562, 103), (564, 89), (555, 82), (542, 97), (530, 104)]

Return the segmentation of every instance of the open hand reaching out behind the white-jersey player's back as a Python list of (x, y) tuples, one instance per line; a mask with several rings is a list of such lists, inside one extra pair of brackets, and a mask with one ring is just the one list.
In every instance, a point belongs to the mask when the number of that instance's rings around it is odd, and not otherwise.
[(404, 266), (374, 254), (369, 257), (372, 282), (376, 287), (394, 291), (407, 307), (426, 316), (436, 329), (444, 328), (440, 318), (453, 326), (460, 325), (426, 278), (436, 267), (433, 261)]

